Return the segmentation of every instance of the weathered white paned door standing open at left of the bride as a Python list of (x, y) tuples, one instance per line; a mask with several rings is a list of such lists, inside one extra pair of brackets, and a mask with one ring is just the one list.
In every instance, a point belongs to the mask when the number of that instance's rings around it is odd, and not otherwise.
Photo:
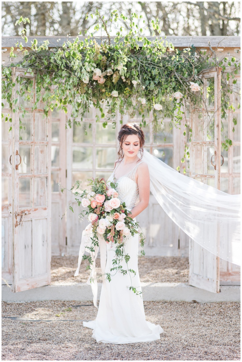
[[(27, 290), (51, 282), (51, 153), (50, 121), (44, 105), (35, 102), (35, 79), (21, 68), (13, 68), (13, 81), (29, 83), (28, 111), (12, 115), (13, 174), (13, 291)], [(17, 94), (17, 85), (15, 90)]]

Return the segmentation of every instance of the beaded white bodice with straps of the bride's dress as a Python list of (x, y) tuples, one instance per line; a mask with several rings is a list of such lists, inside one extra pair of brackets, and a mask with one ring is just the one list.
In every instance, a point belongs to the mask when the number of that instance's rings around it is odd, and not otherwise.
[(110, 182), (117, 182), (118, 186), (116, 190), (119, 194), (118, 198), (120, 199), (121, 203), (125, 202), (125, 205), (128, 209), (132, 210), (139, 203), (139, 188), (135, 182), (135, 174), (139, 164), (144, 161), (140, 161), (136, 164), (132, 170), (126, 173), (123, 176), (120, 176), (118, 179), (114, 180), (115, 170), (118, 167), (119, 163), (117, 162), (114, 171), (112, 172), (111, 176), (107, 180), (107, 187), (110, 188)]

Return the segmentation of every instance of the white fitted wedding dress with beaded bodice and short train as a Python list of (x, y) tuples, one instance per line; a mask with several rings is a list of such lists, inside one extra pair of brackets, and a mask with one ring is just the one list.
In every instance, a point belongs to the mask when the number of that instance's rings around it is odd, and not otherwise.
[[(121, 203), (125, 201), (126, 207), (129, 210), (139, 203), (139, 189), (135, 182), (135, 173), (141, 162), (144, 161), (140, 161), (130, 172), (121, 176), (116, 181), (118, 182), (116, 190), (118, 191), (119, 199)], [(117, 166), (118, 163), (107, 180), (107, 185), (109, 182), (114, 182), (114, 173)], [(110, 185), (108, 185), (108, 187), (110, 187)], [(139, 236), (135, 234), (135, 236), (127, 237), (126, 239), (125, 252), (130, 255), (128, 268), (136, 271), (135, 276), (131, 274), (132, 286), (141, 291), (138, 272)], [(110, 273), (110, 268), (113, 266), (112, 260), (115, 255), (115, 244), (112, 245), (112, 243), (106, 242), (105, 244), (105, 252), (107, 252), (105, 272)], [(95, 255), (96, 254), (97, 252)], [(125, 265), (122, 266), (125, 269)], [(114, 273), (115, 272), (112, 271), (111, 275)], [(129, 274), (123, 275), (119, 271), (111, 277), (110, 282), (103, 278), (96, 320), (83, 322), (84, 327), (93, 329), (92, 337), (95, 338), (98, 343), (126, 344), (155, 341), (160, 339), (160, 333), (164, 332), (160, 325), (155, 325), (145, 320), (141, 295), (136, 295), (128, 288), (131, 286), (131, 278)]]

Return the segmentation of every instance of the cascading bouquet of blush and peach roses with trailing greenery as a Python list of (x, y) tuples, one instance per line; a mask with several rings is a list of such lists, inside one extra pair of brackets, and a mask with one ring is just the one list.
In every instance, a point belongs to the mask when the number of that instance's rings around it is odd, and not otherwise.
[[(109, 282), (111, 281), (111, 277), (114, 275), (111, 275), (111, 272), (117, 273), (120, 271), (123, 274), (136, 274), (135, 270), (128, 268), (130, 256), (125, 251), (125, 244), (128, 237), (139, 233), (139, 242), (142, 247), (140, 254), (141, 256), (145, 254), (143, 249), (145, 237), (139, 223), (128, 216), (129, 210), (125, 202), (121, 203), (114, 182), (110, 182), (108, 187), (103, 178), (101, 180), (93, 178), (88, 179), (88, 181), (88, 186), (91, 186), (91, 190), (81, 189), (81, 181), (76, 181), (75, 185), (71, 188), (78, 205), (84, 207), (84, 210), (79, 214), (80, 221), (82, 221), (82, 217), (85, 217), (90, 222), (89, 230), (92, 235), (92, 243), (86, 247), (90, 252), (90, 256), (82, 256), (82, 260), (88, 259), (89, 261), (86, 269), (92, 270), (92, 253), (99, 246), (99, 239), (103, 238), (106, 243), (111, 243), (111, 248), (115, 248), (115, 258), (112, 260), (113, 267), (110, 269), (110, 273), (105, 273), (106, 279)], [(64, 188), (61, 185), (60, 187), (63, 192)], [(69, 205), (69, 209), (73, 211), (71, 205)], [(126, 269), (121, 265), (122, 261), (126, 263)], [(133, 286), (130, 287), (130, 290), (136, 294), (141, 294)]]

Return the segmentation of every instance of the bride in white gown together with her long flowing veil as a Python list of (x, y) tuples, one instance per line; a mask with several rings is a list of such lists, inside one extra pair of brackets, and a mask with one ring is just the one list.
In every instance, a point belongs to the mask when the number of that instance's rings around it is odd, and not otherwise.
[[(136, 123), (123, 125), (119, 131), (119, 158), (107, 180), (117, 182), (119, 199), (126, 203), (135, 220), (149, 203), (150, 191), (169, 217), (201, 247), (216, 256), (240, 265), (240, 198), (229, 195), (184, 176), (143, 149), (144, 132)], [(136, 220), (135, 220), (136, 221)], [(89, 230), (90, 232), (90, 230)], [(87, 228), (82, 233), (78, 258), (78, 275), (85, 245)], [(130, 255), (129, 268), (137, 273), (132, 276), (132, 286), (141, 291), (138, 273), (138, 234), (127, 237), (125, 251)], [(95, 321), (83, 322), (92, 328), (97, 342), (126, 344), (160, 339), (164, 330), (145, 320), (143, 300), (130, 291), (130, 276), (117, 272), (107, 282), (104, 275), (110, 273), (115, 248), (99, 238), (103, 284)], [(97, 306), (97, 279), (95, 258), (87, 283), (93, 290)], [(92, 283), (90, 282), (92, 278)]]

